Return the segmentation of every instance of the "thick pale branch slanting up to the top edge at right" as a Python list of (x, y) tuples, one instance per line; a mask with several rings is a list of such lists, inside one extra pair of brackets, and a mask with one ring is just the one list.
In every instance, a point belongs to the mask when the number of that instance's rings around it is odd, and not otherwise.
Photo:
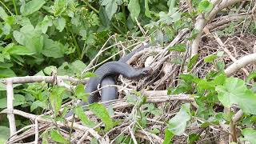
[(222, 10), (227, 6), (231, 6), (234, 3), (241, 2), (241, 1), (242, 0), (222, 0), (222, 2), (220, 2), (220, 0), (214, 0), (214, 1), (212, 1), (213, 5), (214, 5), (214, 9), (211, 10), (209, 14), (206, 14), (207, 19), (203, 18), (202, 14), (198, 15), (198, 17), (196, 18), (196, 22), (194, 24), (194, 30), (197, 30), (198, 34), (197, 34), (197, 37), (194, 38), (194, 40), (192, 42), (191, 55), (190, 55), (191, 58), (195, 54), (198, 54), (198, 47), (199, 47), (199, 42), (201, 41), (202, 30), (206, 26), (207, 22), (209, 22), (212, 18), (214, 18), (214, 15), (216, 15), (219, 10)]

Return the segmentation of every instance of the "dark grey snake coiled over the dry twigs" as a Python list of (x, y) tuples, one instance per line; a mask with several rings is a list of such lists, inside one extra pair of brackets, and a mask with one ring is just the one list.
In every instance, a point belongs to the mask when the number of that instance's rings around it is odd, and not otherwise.
[[(137, 50), (132, 51), (130, 54), (127, 54), (125, 57), (119, 59), (118, 62), (106, 62), (102, 66), (98, 67), (97, 70), (94, 71), (94, 74), (97, 74), (98, 77), (91, 77), (89, 81), (86, 84), (86, 93), (90, 93), (88, 96), (88, 103), (94, 103), (98, 102), (99, 93), (95, 92), (94, 94), (91, 94), (95, 90), (97, 90), (98, 84), (101, 84), (101, 86), (106, 85), (115, 85), (115, 76), (118, 74), (122, 74), (125, 78), (142, 78), (150, 73), (152, 70), (150, 67), (145, 67), (142, 69), (134, 69), (132, 66), (126, 64), (126, 62), (138, 51), (144, 50), (145, 48), (149, 47), (150, 44), (146, 44), (145, 46), (142, 46), (138, 48)], [(116, 99), (118, 94), (118, 90), (116, 87), (108, 86), (105, 88), (102, 88), (102, 102), (109, 101)], [(79, 102), (78, 105), (86, 105), (87, 102)], [(66, 117), (69, 117), (72, 115), (73, 112), (69, 112), (66, 114)]]

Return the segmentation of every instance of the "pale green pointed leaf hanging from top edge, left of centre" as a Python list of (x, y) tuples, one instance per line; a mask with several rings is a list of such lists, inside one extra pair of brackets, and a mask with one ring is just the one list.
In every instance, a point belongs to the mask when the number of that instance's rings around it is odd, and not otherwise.
[(106, 14), (109, 19), (111, 19), (114, 13), (118, 10), (118, 4), (116, 0), (103, 0), (102, 6), (105, 6)]

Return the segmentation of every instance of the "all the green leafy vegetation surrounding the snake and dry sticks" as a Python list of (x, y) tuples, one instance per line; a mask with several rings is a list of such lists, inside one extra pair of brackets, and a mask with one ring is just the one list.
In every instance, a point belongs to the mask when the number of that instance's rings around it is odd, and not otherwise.
[[(98, 63), (106, 58), (118, 55), (119, 48), (116, 42), (124, 42), (129, 46), (134, 43), (133, 38), (145, 36), (140, 26), (150, 34), (150, 42), (165, 46), (171, 42), (183, 28), (190, 29), (191, 42), (198, 34), (194, 28), (194, 18), (198, 14), (206, 14), (213, 9), (208, 0), (194, 0), (194, 11), (182, 12), (178, 10), (178, 1), (175, 0), (4, 0), (0, 1), (0, 78), (10, 78), (26, 75), (51, 75), (56, 70), (58, 75), (69, 75), (77, 78), (97, 76), (93, 73), (84, 73), (83, 70), (94, 59), (103, 45), (112, 46), (98, 57)], [(218, 31), (221, 36), (234, 34), (235, 22), (225, 30)], [(254, 33), (254, 26), (248, 26)], [(112, 37), (113, 36), (113, 37)], [(112, 37), (112, 38), (110, 38)], [(140, 40), (144, 40), (141, 38)], [(170, 51), (184, 54), (186, 44), (180, 43), (169, 48)], [(166, 102), (164, 109), (158, 105), (147, 103), (147, 98), (140, 92), (134, 91), (127, 96), (127, 101), (134, 105), (130, 115), (124, 115), (132, 121), (130, 134), (118, 134), (113, 138), (116, 143), (130, 143), (134, 141), (133, 133), (136, 130), (148, 130), (150, 134), (161, 135), (163, 143), (174, 142), (187, 133), (186, 142), (197, 142), (201, 133), (187, 131), (187, 128), (196, 123), (204, 130), (221, 124), (232, 125), (234, 112), (232, 109), (241, 109), (243, 116), (236, 123), (241, 131), (240, 141), (255, 143), (255, 107), (256, 95), (252, 72), (245, 80), (227, 78), (224, 72), (225, 62), (222, 59), (224, 52), (209, 54), (203, 62), (214, 66), (214, 70), (207, 71), (205, 77), (198, 77), (193, 73), (179, 74), (177, 86), (168, 87), (168, 94), (190, 94), (194, 103), (182, 102), (173, 116), (166, 116), (162, 127), (148, 127), (148, 119), (162, 118), (171, 104)], [(199, 54), (189, 61), (182, 61), (182, 56), (174, 64), (187, 66), (193, 70)], [(116, 60), (118, 56), (110, 60)], [(15, 109), (32, 114), (43, 114), (45, 110), (52, 110), (53, 116), (44, 118), (54, 122), (64, 122), (64, 115), (68, 110), (81, 120), (82, 125), (95, 129), (100, 134), (107, 134), (115, 126), (119, 126), (123, 119), (114, 119), (111, 107), (99, 103), (87, 107), (104, 126), (99, 127), (98, 120), (91, 119), (84, 113), (82, 106), (65, 107), (63, 103), (70, 99), (87, 101), (89, 94), (84, 93), (84, 86), (79, 84), (74, 90), (67, 90), (62, 86), (54, 86), (46, 82), (14, 85)], [(6, 87), (0, 83), (0, 110), (6, 109)], [(218, 107), (218, 108), (216, 108)], [(227, 110), (227, 112), (225, 110)], [(174, 110), (175, 111), (175, 110)], [(168, 111), (169, 112), (169, 111)], [(73, 116), (74, 120), (74, 116)], [(161, 119), (162, 120), (162, 119)], [(0, 115), (0, 143), (6, 142), (9, 134), (6, 115)], [(17, 120), (18, 129), (30, 124), (30, 121), (21, 117)], [(156, 122), (157, 123), (157, 122)], [(73, 126), (73, 123), (72, 123)], [(71, 126), (71, 128), (72, 128)], [(97, 127), (98, 126), (98, 127)], [(97, 127), (97, 128), (94, 128)], [(217, 129), (217, 128), (216, 128)], [(220, 128), (218, 128), (220, 129)], [(8, 131), (8, 132), (7, 132)], [(70, 137), (72, 129), (70, 131)], [(228, 133), (229, 131), (223, 130)], [(41, 134), (42, 142), (50, 141), (70, 143), (57, 126)], [(98, 139), (92, 137), (91, 142)], [(111, 139), (112, 140), (112, 139)], [(137, 139), (139, 140), (139, 139)]]

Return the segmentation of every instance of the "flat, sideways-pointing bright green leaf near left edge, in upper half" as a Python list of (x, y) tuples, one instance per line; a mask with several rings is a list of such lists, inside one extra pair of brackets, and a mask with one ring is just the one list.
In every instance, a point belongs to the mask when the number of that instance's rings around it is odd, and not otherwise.
[(10, 47), (7, 52), (10, 55), (32, 55), (35, 54), (35, 51), (31, 51), (27, 49), (25, 46), (12, 46)]

